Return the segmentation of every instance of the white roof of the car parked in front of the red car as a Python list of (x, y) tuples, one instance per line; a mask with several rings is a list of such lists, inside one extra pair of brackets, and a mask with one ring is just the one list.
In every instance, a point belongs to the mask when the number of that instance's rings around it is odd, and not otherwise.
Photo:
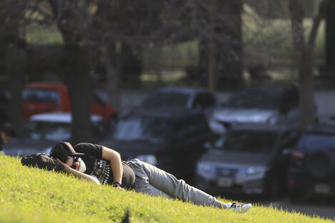
[[(71, 113), (40, 113), (32, 115), (29, 120), (39, 122), (52, 122), (52, 123), (71, 123)], [(91, 121), (93, 123), (103, 121), (103, 117), (100, 115), (91, 115)]]

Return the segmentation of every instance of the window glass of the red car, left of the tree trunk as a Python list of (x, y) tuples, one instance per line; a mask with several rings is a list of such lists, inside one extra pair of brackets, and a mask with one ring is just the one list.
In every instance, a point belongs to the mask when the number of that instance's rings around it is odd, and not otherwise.
[(24, 89), (22, 100), (33, 103), (60, 103), (61, 95), (57, 90)]

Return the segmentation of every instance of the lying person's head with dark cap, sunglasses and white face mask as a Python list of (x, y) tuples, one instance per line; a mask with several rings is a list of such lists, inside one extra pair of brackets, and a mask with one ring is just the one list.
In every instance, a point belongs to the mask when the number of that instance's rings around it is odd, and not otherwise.
[(84, 153), (76, 152), (69, 142), (57, 142), (50, 150), (51, 157), (58, 158), (71, 168), (80, 172), (85, 172), (86, 165), (80, 156)]

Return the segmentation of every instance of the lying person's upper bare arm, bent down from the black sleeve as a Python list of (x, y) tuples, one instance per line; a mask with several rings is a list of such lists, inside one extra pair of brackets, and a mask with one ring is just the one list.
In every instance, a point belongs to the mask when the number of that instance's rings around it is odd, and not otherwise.
[(122, 184), (123, 167), (121, 163), (120, 153), (111, 150), (108, 147), (103, 147), (103, 159), (109, 160), (110, 168), (113, 172), (113, 182)]

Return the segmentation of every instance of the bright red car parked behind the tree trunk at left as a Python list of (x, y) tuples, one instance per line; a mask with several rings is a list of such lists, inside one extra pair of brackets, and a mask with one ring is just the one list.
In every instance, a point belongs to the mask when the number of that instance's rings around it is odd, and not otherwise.
[[(63, 83), (31, 83), (24, 86), (22, 95), (24, 120), (31, 115), (52, 111), (71, 111), (68, 88)], [(101, 115), (106, 123), (113, 123), (117, 118), (115, 109), (104, 103), (93, 93), (91, 97), (91, 113)]]

